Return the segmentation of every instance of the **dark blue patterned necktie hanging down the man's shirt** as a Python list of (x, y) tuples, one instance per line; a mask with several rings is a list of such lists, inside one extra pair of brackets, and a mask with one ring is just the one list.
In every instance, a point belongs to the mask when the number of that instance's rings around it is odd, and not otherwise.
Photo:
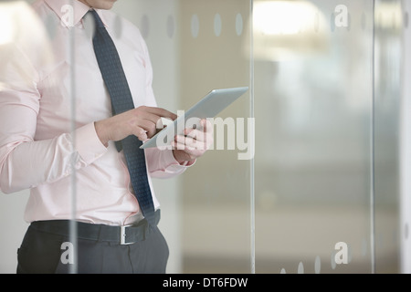
[[(121, 66), (121, 59), (116, 47), (101, 22), (100, 16), (95, 10), (89, 12), (95, 20), (95, 33), (93, 36), (94, 52), (99, 63), (100, 71), (106, 88), (111, 97), (113, 115), (134, 109), (132, 93)], [(134, 135), (128, 136), (116, 143), (118, 151), (121, 148), (127, 161), (130, 172), (132, 188), (137, 201), (140, 204), (142, 214), (147, 222), (154, 226), (154, 204), (147, 178), (144, 151), (140, 149), (142, 141)]]

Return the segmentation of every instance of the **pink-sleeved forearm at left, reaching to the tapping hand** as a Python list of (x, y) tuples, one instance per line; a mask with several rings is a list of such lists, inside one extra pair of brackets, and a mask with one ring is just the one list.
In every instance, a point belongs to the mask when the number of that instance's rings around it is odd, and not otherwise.
[[(98, 159), (105, 147), (93, 137), (92, 125), (44, 141), (18, 141), (0, 148), (3, 193), (53, 183)], [(74, 145), (73, 137), (79, 142)]]

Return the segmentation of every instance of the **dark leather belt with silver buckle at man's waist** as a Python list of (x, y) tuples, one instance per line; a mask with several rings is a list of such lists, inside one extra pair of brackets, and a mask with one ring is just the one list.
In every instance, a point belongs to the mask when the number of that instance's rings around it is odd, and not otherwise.
[[(155, 224), (160, 221), (160, 210), (155, 212)], [(38, 231), (55, 235), (69, 236), (72, 221), (70, 220), (47, 220), (35, 221), (30, 224)], [(112, 226), (106, 224), (88, 224), (76, 222), (77, 238), (95, 241), (105, 241), (120, 245), (131, 245), (142, 241), (150, 234), (152, 228), (145, 219), (138, 224), (123, 226)]]

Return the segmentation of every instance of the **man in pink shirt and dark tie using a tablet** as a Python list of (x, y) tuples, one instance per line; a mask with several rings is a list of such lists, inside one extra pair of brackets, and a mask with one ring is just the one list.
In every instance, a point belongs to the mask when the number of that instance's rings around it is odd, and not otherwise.
[[(25, 220), (31, 224), (18, 249), (17, 273), (68, 273), (70, 263), (62, 260), (62, 246), (73, 226), (73, 168), (77, 271), (164, 273), (168, 247), (155, 225), (160, 204), (151, 177), (183, 173), (211, 144), (211, 127), (204, 120), (203, 127), (185, 131), (195, 139), (176, 136), (173, 150), (145, 151), (146, 182), (155, 209), (155, 223), (148, 222), (136, 194), (143, 182), (132, 183), (126, 149), (117, 145), (130, 137), (145, 141), (153, 137), (161, 118), (176, 116), (157, 107), (147, 47), (135, 26), (110, 11), (114, 2), (37, 0), (34, 10), (54, 31), (52, 60), (36, 57), (32, 49), (38, 44), (17, 42), (1, 70), (0, 189), (30, 189)], [(72, 15), (65, 18), (66, 13)], [(110, 80), (100, 64), (99, 48), (93, 47), (97, 33), (88, 34), (92, 22), (87, 19), (93, 19), (93, 31), (107, 31), (115, 44), (132, 96), (131, 110), (112, 112)], [(113, 30), (118, 19), (121, 36)], [(132, 228), (121, 227), (130, 224)]]

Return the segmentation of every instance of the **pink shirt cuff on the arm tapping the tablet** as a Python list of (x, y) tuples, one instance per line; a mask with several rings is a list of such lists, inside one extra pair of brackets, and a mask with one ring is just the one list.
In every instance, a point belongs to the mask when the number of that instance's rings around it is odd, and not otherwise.
[(73, 135), (75, 135), (76, 150), (87, 164), (96, 161), (107, 151), (106, 146), (101, 143), (99, 136), (97, 136), (94, 122), (75, 130)]

